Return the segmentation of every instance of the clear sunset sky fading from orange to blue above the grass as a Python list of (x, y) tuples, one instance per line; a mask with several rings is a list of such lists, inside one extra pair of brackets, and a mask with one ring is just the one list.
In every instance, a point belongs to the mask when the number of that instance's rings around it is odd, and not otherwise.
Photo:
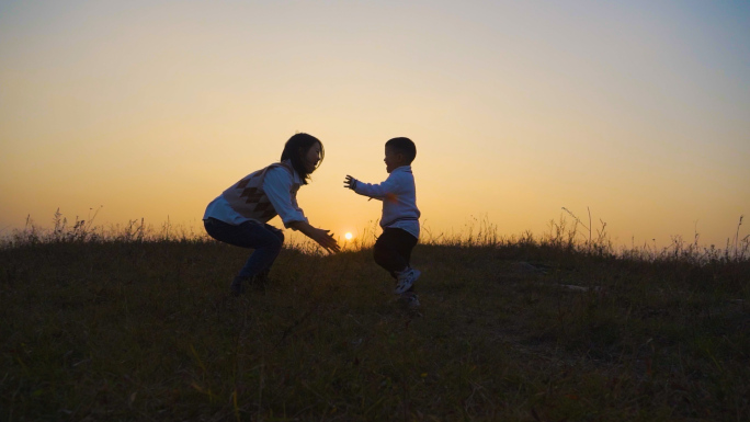
[(567, 207), (617, 244), (724, 247), (750, 217), (750, 2), (0, 0), (0, 235), (58, 207), (200, 228), (297, 132), (326, 149), (299, 204), (342, 237), (380, 215), (344, 175), (385, 180), (407, 136), (433, 235)]

